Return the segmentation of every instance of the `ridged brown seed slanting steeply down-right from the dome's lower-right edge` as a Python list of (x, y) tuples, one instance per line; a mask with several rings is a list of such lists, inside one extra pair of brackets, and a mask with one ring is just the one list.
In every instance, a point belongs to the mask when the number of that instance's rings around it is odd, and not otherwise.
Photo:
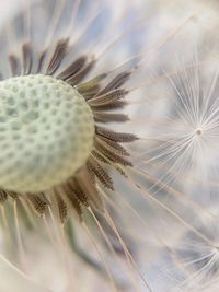
[(94, 157), (91, 156), (88, 160), (87, 166), (95, 174), (105, 188), (114, 190), (113, 179)]

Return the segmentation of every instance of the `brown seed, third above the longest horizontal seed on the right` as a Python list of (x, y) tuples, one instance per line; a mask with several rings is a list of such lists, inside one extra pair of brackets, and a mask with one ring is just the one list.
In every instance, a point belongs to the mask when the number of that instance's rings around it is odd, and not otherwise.
[(111, 91), (108, 93), (93, 97), (93, 98), (89, 100), (88, 103), (90, 106), (103, 106), (103, 105), (112, 104), (114, 102), (117, 102), (117, 101), (124, 98), (124, 96), (126, 94), (128, 94), (128, 91), (126, 91), (124, 89), (117, 89), (117, 90)]

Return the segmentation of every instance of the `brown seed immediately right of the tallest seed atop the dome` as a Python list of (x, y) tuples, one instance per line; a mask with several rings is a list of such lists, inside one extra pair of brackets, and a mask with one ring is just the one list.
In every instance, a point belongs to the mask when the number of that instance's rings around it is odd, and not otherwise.
[(78, 73), (87, 63), (88, 57), (81, 56), (76, 59), (66, 70), (64, 70), (57, 78), (67, 80)]

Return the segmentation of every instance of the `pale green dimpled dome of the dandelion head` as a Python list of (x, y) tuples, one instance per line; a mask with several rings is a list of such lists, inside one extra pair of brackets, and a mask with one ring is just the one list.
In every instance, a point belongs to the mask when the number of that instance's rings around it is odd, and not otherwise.
[(43, 74), (0, 82), (0, 187), (36, 192), (64, 183), (93, 137), (92, 112), (66, 82)]

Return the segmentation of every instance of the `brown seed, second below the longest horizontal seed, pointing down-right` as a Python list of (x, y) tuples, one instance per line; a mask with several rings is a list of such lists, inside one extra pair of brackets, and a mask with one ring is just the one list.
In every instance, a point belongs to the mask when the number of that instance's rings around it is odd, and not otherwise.
[(131, 162), (129, 162), (126, 157), (116, 154), (115, 152), (111, 151), (108, 148), (94, 141), (94, 147), (100, 151), (104, 156), (106, 156), (110, 161), (122, 164), (123, 166), (132, 166)]

